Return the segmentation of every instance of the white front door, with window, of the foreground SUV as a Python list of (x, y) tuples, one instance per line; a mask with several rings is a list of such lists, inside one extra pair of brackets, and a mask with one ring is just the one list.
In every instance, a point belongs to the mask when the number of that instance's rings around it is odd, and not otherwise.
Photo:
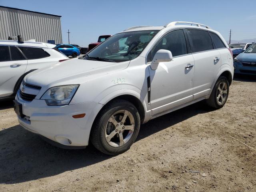
[[(150, 103), (152, 116), (192, 101), (194, 82), (194, 58), (186, 44), (183, 30), (164, 35), (151, 50), (151, 59), (160, 50), (170, 50), (173, 59), (161, 62), (150, 71)], [(150, 55), (150, 54), (149, 54)]]

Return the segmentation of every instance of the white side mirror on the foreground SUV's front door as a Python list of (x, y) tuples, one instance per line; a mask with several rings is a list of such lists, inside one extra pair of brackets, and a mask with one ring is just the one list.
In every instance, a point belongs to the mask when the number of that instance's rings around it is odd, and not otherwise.
[(165, 49), (160, 49), (156, 52), (150, 67), (152, 70), (156, 70), (158, 68), (158, 64), (160, 62), (169, 62), (172, 60), (172, 52)]

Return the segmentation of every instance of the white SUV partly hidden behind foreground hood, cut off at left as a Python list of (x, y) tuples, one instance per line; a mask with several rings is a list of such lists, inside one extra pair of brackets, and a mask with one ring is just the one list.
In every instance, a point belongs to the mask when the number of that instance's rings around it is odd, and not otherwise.
[(26, 74), (68, 59), (56, 45), (18, 39), (0, 40), (0, 99), (14, 97)]

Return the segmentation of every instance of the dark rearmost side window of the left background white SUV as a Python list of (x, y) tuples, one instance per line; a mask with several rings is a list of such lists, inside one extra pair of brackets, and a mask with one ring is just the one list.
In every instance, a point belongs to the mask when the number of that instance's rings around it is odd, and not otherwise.
[(49, 57), (50, 55), (41, 48), (34, 47), (18, 47), (28, 59), (40, 59)]

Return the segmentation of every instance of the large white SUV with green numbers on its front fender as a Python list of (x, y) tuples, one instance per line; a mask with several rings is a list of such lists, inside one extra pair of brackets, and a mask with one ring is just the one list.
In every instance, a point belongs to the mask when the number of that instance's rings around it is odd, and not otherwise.
[(120, 154), (141, 123), (204, 99), (224, 106), (233, 73), (228, 45), (208, 26), (136, 26), (80, 59), (28, 74), (15, 111), (21, 126), (53, 144), (83, 148), (90, 140)]

